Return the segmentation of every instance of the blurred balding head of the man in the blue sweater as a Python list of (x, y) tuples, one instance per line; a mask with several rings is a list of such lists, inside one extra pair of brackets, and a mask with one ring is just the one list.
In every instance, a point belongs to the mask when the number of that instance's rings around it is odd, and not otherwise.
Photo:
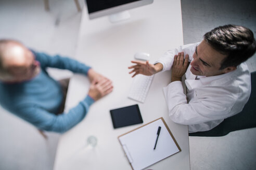
[(33, 78), (36, 68), (33, 53), (15, 40), (0, 40), (0, 79), (24, 81)]

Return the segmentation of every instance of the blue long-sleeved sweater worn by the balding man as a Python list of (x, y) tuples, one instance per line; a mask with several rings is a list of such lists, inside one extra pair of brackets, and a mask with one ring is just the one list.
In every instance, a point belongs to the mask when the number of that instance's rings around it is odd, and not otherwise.
[(85, 117), (94, 100), (87, 95), (67, 113), (55, 115), (59, 110), (63, 94), (59, 82), (49, 77), (46, 68), (68, 69), (73, 73), (87, 75), (91, 67), (59, 55), (49, 56), (45, 53), (32, 52), (35, 59), (40, 62), (41, 72), (25, 82), (10, 84), (0, 81), (0, 104), (40, 130), (66, 132)]

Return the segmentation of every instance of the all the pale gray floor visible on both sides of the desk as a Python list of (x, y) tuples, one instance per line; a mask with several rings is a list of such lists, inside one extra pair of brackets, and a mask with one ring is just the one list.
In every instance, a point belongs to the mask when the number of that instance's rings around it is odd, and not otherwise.
[[(46, 12), (43, 0), (0, 0), (0, 38), (74, 56), (81, 14), (71, 0), (49, 2)], [(200, 41), (207, 31), (228, 23), (248, 26), (256, 35), (256, 1), (182, 0), (181, 4), (184, 44)], [(248, 64), (256, 70), (255, 55)], [(56, 78), (66, 76), (50, 72)], [(33, 126), (0, 108), (0, 169), (52, 169), (59, 135), (47, 135), (45, 140)], [(189, 137), (191, 169), (254, 169), (255, 140), (256, 129), (224, 137)]]

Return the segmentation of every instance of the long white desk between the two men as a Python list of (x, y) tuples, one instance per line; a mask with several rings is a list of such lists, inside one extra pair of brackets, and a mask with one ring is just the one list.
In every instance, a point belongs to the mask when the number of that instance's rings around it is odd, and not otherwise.
[[(106, 17), (88, 20), (83, 10), (76, 59), (91, 65), (113, 81), (113, 92), (94, 103), (85, 119), (63, 134), (59, 140), (54, 169), (132, 169), (118, 136), (138, 125), (113, 129), (110, 109), (137, 104), (127, 98), (132, 83), (128, 66), (137, 51), (148, 52), (151, 62), (168, 49), (183, 45), (181, 4), (178, 0), (156, 0), (153, 4), (130, 10), (130, 20), (111, 24)], [(146, 169), (189, 169), (188, 129), (168, 118), (162, 87), (170, 83), (170, 72), (155, 75), (144, 104), (139, 104), (148, 123), (163, 117), (182, 151)], [(81, 75), (71, 79), (66, 109), (85, 97), (89, 82)], [(96, 148), (88, 148), (86, 139), (94, 135)]]

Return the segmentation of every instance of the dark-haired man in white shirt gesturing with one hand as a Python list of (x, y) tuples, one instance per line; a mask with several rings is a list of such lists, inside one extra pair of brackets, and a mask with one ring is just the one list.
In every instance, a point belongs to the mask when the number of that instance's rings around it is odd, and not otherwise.
[[(136, 65), (129, 67), (130, 74), (149, 76), (172, 70), (171, 83), (163, 89), (169, 117), (188, 125), (189, 133), (208, 131), (247, 103), (251, 81), (244, 62), (255, 50), (251, 30), (224, 25), (204, 34), (200, 43), (165, 52), (155, 64), (132, 61)], [(181, 81), (184, 74), (186, 94)]]

